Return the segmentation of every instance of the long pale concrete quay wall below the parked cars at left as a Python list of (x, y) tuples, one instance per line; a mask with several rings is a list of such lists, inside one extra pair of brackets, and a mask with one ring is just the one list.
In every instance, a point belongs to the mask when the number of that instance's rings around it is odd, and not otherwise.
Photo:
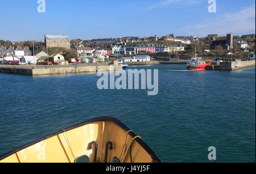
[(67, 73), (88, 73), (97, 71), (122, 70), (122, 66), (116, 65), (67, 65), (67, 66), (43, 66), (36, 65), (0, 65), (0, 73), (23, 74), (23, 75), (51, 75)]

